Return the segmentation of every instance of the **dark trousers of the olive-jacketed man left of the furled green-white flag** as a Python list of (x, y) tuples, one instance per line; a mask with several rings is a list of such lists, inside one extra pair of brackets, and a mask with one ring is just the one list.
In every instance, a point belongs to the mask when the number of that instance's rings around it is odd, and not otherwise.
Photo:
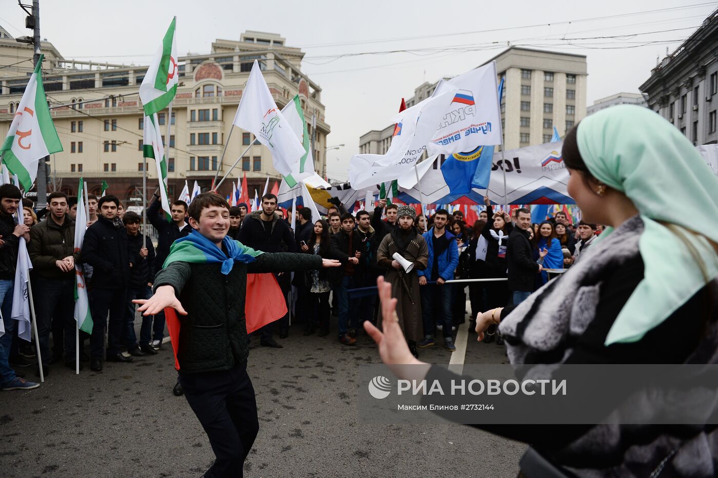
[[(75, 278), (37, 278), (35, 313), (42, 365), (50, 365), (50, 332), (56, 327), (64, 335), (65, 360), (75, 360)], [(53, 333), (55, 357), (62, 357), (62, 335)]]

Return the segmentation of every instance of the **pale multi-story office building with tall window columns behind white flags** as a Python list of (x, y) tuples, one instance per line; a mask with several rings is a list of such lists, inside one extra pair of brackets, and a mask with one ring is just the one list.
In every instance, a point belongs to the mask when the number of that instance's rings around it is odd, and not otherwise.
[[(554, 126), (563, 136), (586, 116), (584, 55), (510, 47), (488, 60), (492, 61), (496, 62), (498, 81), (505, 78), (501, 100), (505, 149), (547, 143)], [(406, 106), (428, 98), (437, 84), (419, 85)], [(393, 125), (363, 134), (360, 153), (386, 153), (392, 133)]]

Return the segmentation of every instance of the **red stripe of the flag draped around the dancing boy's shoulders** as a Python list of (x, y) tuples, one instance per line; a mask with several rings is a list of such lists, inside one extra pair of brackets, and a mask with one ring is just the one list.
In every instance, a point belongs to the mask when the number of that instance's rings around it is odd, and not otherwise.
[[(286, 302), (284, 301), (284, 294), (274, 274), (247, 274), (244, 314), (248, 334), (284, 317), (286, 314)], [(180, 361), (177, 360), (177, 350), (180, 348), (180, 329), (182, 328), (182, 322), (177, 318), (177, 311), (172, 309), (172, 307), (164, 309), (164, 318), (167, 320), (169, 339), (172, 341), (174, 368), (180, 370)]]

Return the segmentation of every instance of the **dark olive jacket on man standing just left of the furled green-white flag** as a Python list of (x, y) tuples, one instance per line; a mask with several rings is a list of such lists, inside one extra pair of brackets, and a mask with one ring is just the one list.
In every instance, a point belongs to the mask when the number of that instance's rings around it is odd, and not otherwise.
[(38, 277), (74, 278), (74, 268), (62, 272), (55, 261), (61, 261), (67, 256), (73, 256), (75, 261), (80, 258), (80, 251), (75, 253), (75, 221), (65, 215), (65, 222), (58, 225), (50, 214), (46, 220), (38, 222), (30, 229), (27, 253), (32, 261), (32, 270)]

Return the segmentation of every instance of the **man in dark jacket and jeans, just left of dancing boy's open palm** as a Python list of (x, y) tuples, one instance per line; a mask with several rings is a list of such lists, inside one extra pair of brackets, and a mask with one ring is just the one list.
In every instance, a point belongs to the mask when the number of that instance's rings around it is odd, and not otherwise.
[[(135, 304), (134, 299), (149, 299), (152, 296), (150, 287), (154, 281), (155, 253), (152, 241), (139, 233), (142, 218), (132, 211), (125, 212), (122, 222), (127, 230), (127, 244), (129, 257), (134, 258), (134, 267), (130, 271), (130, 281), (127, 285), (127, 307), (123, 325), (123, 339), (127, 345), (127, 352), (135, 357), (144, 354), (155, 355), (157, 350), (150, 347), (152, 338), (152, 317), (143, 317), (139, 331), (139, 345), (134, 331)], [(144, 244), (143, 244), (144, 243)]]

